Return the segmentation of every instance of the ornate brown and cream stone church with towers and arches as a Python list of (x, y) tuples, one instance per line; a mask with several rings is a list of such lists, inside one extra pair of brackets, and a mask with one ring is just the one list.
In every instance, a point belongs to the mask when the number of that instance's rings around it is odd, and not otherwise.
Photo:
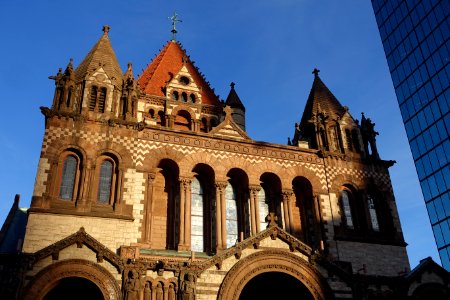
[(288, 143), (257, 142), (234, 84), (219, 99), (175, 38), (135, 76), (108, 32), (50, 76), (31, 205), (16, 197), (0, 235), (3, 299), (449, 295), (431, 259), (410, 270), (373, 122), (318, 70)]

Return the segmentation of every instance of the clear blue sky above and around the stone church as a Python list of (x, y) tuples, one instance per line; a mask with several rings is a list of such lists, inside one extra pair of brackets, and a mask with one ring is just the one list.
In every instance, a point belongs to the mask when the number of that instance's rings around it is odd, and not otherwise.
[(77, 66), (109, 33), (122, 70), (135, 75), (171, 38), (178, 40), (225, 99), (231, 81), (246, 106), (254, 140), (286, 144), (301, 118), (313, 81), (325, 84), (354, 118), (376, 124), (390, 169), (411, 266), (440, 262), (375, 17), (369, 0), (259, 1), (2, 1), (0, 4), (0, 222), (14, 195), (28, 206), (44, 133), (40, 106), (50, 106), (48, 76)]

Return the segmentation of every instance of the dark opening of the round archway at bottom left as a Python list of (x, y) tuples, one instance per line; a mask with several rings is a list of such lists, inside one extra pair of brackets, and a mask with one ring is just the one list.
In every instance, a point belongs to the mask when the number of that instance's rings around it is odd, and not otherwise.
[(95, 283), (81, 277), (66, 277), (56, 283), (43, 300), (103, 300), (103, 294)]

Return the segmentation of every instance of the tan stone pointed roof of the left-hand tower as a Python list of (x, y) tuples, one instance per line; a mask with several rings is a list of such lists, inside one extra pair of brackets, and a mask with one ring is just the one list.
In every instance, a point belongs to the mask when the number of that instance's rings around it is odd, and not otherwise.
[(115, 78), (118, 83), (122, 83), (122, 69), (117, 61), (114, 49), (108, 37), (109, 26), (103, 26), (103, 35), (92, 47), (78, 68), (75, 70), (75, 81), (83, 80), (87, 74), (97, 70), (99, 66), (103, 67), (106, 75), (110, 79)]

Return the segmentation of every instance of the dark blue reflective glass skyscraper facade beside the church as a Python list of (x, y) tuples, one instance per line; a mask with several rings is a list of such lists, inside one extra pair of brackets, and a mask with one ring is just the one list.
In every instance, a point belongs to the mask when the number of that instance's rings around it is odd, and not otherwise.
[(442, 265), (450, 271), (450, 1), (372, 0)]

